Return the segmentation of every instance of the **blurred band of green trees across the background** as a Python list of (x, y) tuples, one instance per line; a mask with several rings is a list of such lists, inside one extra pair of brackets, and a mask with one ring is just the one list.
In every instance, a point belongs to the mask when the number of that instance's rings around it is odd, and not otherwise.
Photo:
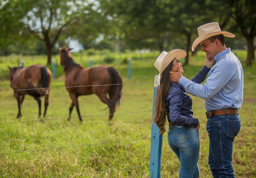
[(77, 40), (83, 49), (169, 51), (188, 55), (197, 28), (218, 22), (235, 38), (226, 47), (246, 49), (247, 65), (255, 55), (255, 0), (19, 0), (0, 3), (0, 55), (46, 54), (47, 63), (58, 48)]

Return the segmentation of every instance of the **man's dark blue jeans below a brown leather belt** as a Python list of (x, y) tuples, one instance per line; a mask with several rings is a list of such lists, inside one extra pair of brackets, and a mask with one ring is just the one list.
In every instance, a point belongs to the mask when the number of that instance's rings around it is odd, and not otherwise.
[(214, 178), (233, 178), (232, 166), (233, 141), (241, 128), (238, 114), (209, 117), (206, 130), (209, 133), (208, 163)]

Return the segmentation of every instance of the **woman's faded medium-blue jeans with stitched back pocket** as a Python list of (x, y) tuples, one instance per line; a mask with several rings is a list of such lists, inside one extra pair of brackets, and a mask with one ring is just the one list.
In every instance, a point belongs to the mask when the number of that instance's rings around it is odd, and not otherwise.
[(183, 126), (170, 126), (168, 131), (168, 143), (179, 158), (179, 177), (199, 177), (199, 133), (198, 129)]

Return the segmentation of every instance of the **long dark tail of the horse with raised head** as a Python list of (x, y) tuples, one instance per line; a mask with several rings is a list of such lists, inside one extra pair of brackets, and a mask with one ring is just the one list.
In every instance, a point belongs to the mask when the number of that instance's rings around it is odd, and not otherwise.
[(114, 67), (108, 67), (108, 73), (110, 75), (111, 84), (120, 84), (120, 85), (111, 85), (111, 89), (109, 94), (109, 98), (113, 98), (111, 103), (111, 108), (113, 108), (116, 104), (119, 106), (122, 101), (122, 78)]

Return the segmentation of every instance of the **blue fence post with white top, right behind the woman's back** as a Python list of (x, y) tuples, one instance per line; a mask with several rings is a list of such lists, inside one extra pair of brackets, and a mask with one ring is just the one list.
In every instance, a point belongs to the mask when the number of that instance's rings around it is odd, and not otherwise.
[(151, 126), (151, 147), (150, 147), (150, 168), (149, 177), (150, 178), (160, 178), (161, 177), (161, 153), (162, 153), (162, 143), (163, 134), (159, 135), (159, 128), (154, 122), (153, 116), (155, 115), (155, 98), (157, 90), (157, 77), (154, 80), (154, 95), (153, 95), (153, 113), (152, 113), (152, 126)]

